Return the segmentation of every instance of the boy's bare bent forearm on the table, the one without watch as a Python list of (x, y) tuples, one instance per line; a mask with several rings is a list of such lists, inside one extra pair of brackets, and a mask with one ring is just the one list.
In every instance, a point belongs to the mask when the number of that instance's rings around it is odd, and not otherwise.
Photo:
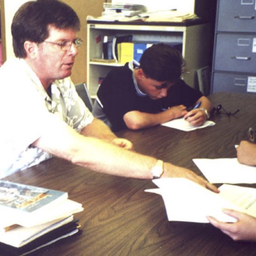
[(133, 110), (123, 116), (124, 123), (131, 130), (151, 127), (157, 124), (166, 123), (171, 119), (179, 118), (187, 113), (184, 105), (174, 106), (157, 114)]

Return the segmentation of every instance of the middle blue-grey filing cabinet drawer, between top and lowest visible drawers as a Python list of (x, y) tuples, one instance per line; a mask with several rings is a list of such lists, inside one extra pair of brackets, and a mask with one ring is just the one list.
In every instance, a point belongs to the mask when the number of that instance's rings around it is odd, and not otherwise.
[(214, 69), (256, 72), (256, 34), (217, 34)]

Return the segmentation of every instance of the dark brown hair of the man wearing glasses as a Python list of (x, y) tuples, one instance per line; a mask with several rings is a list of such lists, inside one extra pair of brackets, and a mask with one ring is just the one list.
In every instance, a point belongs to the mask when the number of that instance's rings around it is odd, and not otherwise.
[(80, 30), (76, 12), (58, 0), (37, 0), (23, 4), (14, 15), (11, 26), (16, 57), (25, 58), (24, 42), (42, 43), (49, 36), (49, 25)]

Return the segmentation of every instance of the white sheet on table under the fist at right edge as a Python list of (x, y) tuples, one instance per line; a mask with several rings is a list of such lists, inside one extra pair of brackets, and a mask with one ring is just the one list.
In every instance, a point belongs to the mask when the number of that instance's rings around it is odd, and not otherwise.
[(256, 167), (240, 164), (237, 158), (193, 159), (211, 183), (256, 183)]

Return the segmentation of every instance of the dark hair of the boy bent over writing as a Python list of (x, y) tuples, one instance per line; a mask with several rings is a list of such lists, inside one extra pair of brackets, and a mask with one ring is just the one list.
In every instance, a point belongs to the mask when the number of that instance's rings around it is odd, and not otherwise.
[(156, 81), (179, 80), (183, 63), (181, 53), (164, 43), (147, 48), (140, 59), (140, 67), (145, 75)]

